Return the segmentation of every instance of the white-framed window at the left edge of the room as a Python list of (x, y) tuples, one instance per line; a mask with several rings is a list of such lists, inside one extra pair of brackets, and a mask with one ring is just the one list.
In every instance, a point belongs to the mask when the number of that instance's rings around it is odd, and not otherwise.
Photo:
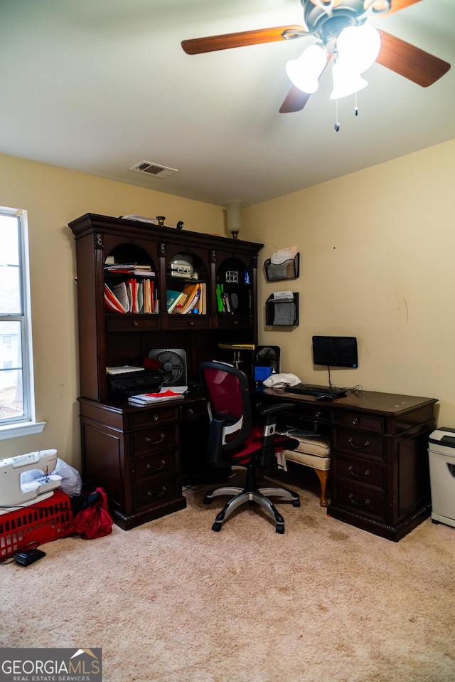
[(27, 214), (0, 206), (0, 439), (43, 431), (35, 421)]

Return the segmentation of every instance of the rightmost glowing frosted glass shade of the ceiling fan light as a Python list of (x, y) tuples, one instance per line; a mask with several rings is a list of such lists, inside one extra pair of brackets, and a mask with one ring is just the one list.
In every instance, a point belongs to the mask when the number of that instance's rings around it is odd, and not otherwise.
[(381, 37), (374, 26), (349, 26), (336, 41), (337, 61), (363, 73), (375, 63), (380, 47)]

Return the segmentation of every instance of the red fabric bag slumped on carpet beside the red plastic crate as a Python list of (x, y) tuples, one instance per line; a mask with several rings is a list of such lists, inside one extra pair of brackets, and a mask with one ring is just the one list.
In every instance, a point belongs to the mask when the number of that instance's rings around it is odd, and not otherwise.
[[(95, 493), (80, 495), (82, 508), (75, 513), (73, 523), (70, 524), (64, 537), (80, 535), (84, 540), (93, 540), (112, 533), (112, 516), (107, 504), (107, 495), (102, 488)], [(73, 502), (73, 499), (72, 499)]]

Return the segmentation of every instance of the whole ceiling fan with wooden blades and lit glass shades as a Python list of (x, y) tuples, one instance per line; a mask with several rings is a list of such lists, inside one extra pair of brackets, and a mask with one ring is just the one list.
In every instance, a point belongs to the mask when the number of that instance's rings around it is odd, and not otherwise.
[[(365, 23), (370, 17), (389, 15), (420, 1), (301, 0), (304, 26), (279, 26), (225, 33), (221, 36), (193, 38), (181, 44), (187, 54), (193, 55), (313, 36), (318, 42), (286, 65), (292, 88), (279, 111), (296, 112), (302, 110), (309, 95), (316, 92), (318, 80), (333, 54), (336, 56), (336, 63), (332, 99), (365, 88), (368, 83), (360, 74), (375, 61), (422, 87), (439, 80), (449, 70), (449, 63)], [(325, 61), (323, 65), (322, 54)], [(353, 90), (355, 87), (358, 89)]]

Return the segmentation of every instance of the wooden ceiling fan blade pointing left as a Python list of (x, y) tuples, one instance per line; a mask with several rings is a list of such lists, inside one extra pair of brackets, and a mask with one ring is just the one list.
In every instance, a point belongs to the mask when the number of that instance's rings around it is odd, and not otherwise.
[[(183, 50), (189, 55), (230, 48), (242, 48), (247, 45), (260, 43), (274, 43), (275, 41), (300, 38), (308, 33), (303, 26), (277, 26), (276, 28), (259, 28), (257, 31), (241, 31), (240, 33), (225, 33), (224, 36), (209, 36), (208, 38), (193, 38), (182, 41)], [(294, 35), (295, 34), (295, 35)]]

